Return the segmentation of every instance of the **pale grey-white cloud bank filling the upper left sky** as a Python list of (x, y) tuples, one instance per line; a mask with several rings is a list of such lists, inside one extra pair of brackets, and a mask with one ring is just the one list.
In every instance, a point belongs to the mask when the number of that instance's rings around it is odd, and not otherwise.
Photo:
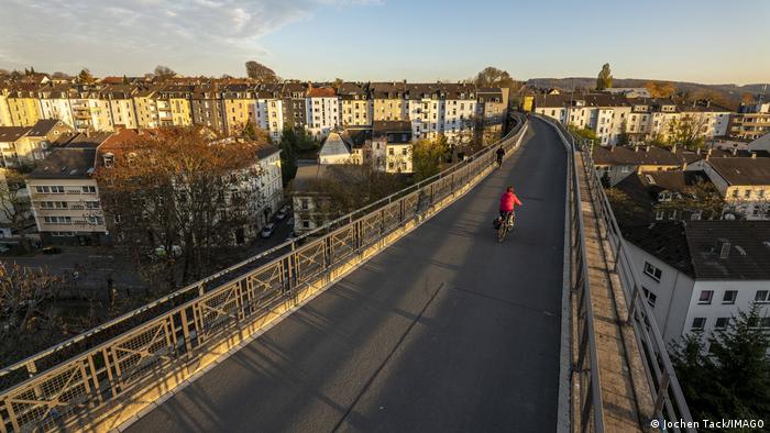
[[(221, 74), (265, 56), (258, 38), (324, 7), (378, 0), (2, 0), (0, 68)], [(22, 64), (23, 63), (23, 64)], [(200, 65), (205, 65), (201, 68)]]

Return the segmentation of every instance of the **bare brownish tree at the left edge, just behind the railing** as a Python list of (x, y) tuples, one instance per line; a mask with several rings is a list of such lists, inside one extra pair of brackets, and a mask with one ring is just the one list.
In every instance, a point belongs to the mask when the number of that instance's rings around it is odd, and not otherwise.
[(58, 334), (54, 310), (64, 279), (45, 270), (0, 262), (0, 363), (12, 362), (51, 344)]

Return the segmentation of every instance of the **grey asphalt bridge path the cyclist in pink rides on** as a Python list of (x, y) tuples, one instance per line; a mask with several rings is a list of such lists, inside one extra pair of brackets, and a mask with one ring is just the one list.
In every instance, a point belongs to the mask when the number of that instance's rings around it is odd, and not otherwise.
[[(557, 422), (565, 154), (524, 147), (131, 432), (546, 432)], [(509, 184), (524, 207), (503, 244)]]

